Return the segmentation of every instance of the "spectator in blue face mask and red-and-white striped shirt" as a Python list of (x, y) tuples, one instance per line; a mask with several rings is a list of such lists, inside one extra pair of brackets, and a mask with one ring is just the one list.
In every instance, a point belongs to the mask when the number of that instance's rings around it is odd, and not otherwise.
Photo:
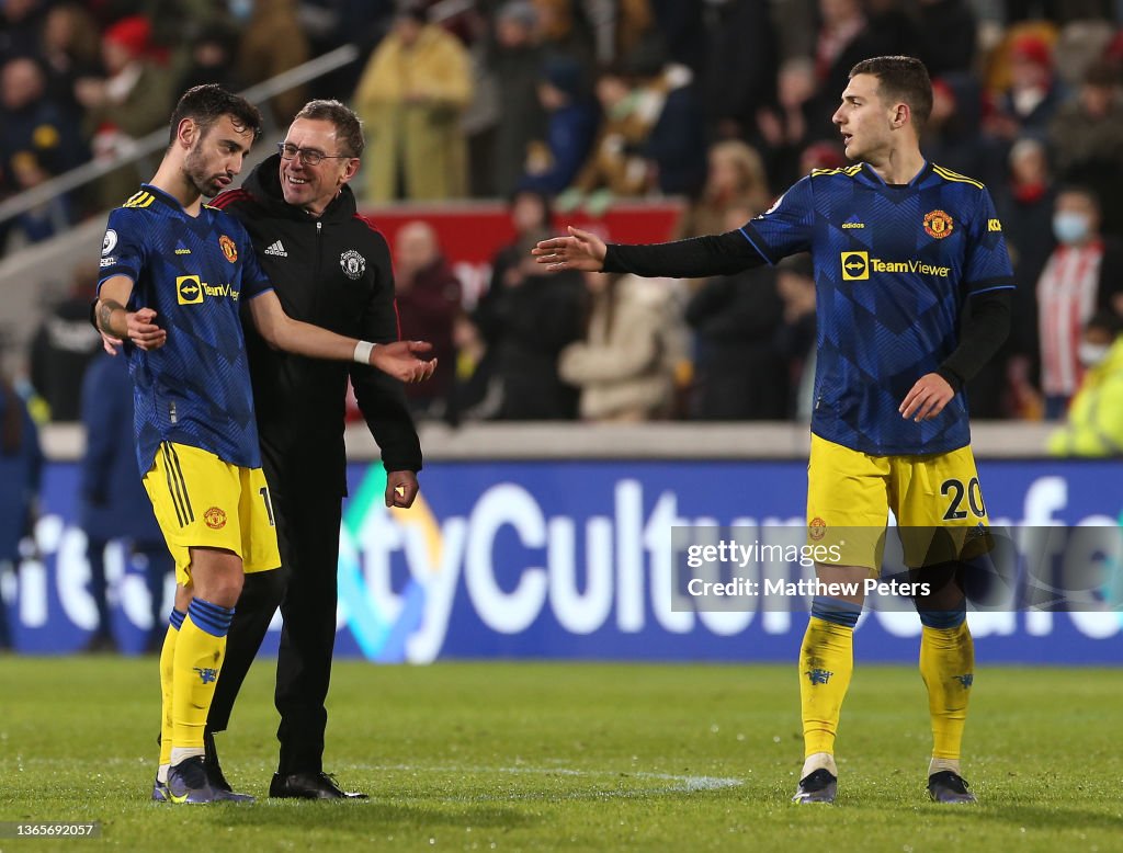
[(1057, 247), (1038, 278), (1038, 330), (1046, 418), (1065, 413), (1084, 375), (1077, 358), (1092, 314), (1123, 315), (1123, 246), (1099, 232), (1099, 202), (1090, 190), (1057, 195), (1052, 220)]

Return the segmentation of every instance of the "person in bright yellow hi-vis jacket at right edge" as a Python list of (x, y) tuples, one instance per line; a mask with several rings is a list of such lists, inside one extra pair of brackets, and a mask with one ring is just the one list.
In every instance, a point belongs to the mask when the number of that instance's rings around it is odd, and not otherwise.
[(1079, 357), (1087, 373), (1065, 425), (1049, 437), (1052, 456), (1123, 456), (1123, 323), (1098, 312), (1084, 328)]

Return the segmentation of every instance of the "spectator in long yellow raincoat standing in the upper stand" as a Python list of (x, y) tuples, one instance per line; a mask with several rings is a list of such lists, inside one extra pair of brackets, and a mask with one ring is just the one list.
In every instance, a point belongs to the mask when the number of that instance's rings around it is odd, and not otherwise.
[(460, 119), (472, 93), (467, 51), (428, 24), (423, 8), (408, 7), (371, 55), (355, 91), (372, 152), (366, 201), (467, 195)]

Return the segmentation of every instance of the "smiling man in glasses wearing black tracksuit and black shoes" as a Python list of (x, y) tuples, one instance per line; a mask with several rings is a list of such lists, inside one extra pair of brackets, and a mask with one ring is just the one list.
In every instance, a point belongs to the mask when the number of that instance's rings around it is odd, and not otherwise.
[[(285, 312), (374, 343), (398, 340), (390, 249), (356, 212), (347, 182), (358, 169), (362, 129), (337, 101), (298, 114), (281, 154), (212, 204), (246, 226)], [(348, 373), (382, 449), (387, 505), (417, 495), (421, 448), (400, 382), (371, 367), (270, 349), (246, 327), (265, 477), (273, 497), (282, 571), (247, 575), (208, 719), (208, 769), (225, 785), (213, 732), (226, 730), (235, 697), (277, 604), (281, 758), (271, 797), (346, 795), (322, 772), (323, 732), (336, 634), (336, 567), (346, 494), (344, 413)], [(274, 580), (280, 576), (280, 583)], [(283, 596), (283, 597), (282, 597)]]

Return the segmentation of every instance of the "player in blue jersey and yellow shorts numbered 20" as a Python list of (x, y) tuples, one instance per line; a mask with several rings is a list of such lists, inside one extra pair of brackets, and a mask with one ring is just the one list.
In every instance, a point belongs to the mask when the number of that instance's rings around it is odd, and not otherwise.
[(1008, 332), (1013, 272), (986, 187), (921, 153), (932, 84), (920, 61), (858, 63), (841, 101), (833, 121), (855, 165), (812, 172), (737, 230), (606, 246), (570, 228), (532, 254), (549, 269), (694, 277), (811, 253), (818, 355), (807, 541), (832, 557), (816, 563), (816, 588), (844, 586), (812, 602), (800, 653), (805, 761), (793, 799), (834, 800), (853, 627), (892, 510), (920, 578), (913, 603), (934, 742), (928, 790), (939, 802), (974, 802), (959, 767), (974, 646), (955, 579), (986, 542), (988, 521), (962, 386)]

